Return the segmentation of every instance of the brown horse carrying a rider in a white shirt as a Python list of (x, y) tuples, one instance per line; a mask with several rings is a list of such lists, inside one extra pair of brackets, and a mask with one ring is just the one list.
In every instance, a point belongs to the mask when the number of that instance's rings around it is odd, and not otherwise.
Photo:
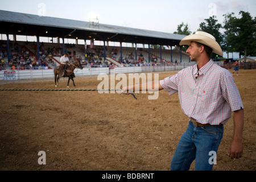
[[(59, 66), (54, 68), (55, 87), (57, 87), (59, 85), (59, 78), (60, 78), (59, 77), (59, 68), (60, 68)], [(73, 78), (76, 77), (75, 73), (74, 73), (75, 68), (82, 69), (82, 64), (80, 63), (80, 60), (68, 65), (67, 68), (65, 69), (64, 76), (63, 76), (63, 77), (68, 77), (68, 84), (69, 84), (69, 80), (72, 80), (74, 87), (76, 86), (75, 82), (73, 80)], [(67, 87), (69, 88), (68, 85), (67, 85)]]

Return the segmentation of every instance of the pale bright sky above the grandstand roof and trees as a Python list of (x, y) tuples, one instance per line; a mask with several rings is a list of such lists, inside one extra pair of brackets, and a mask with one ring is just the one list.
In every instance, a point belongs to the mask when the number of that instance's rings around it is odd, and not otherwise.
[[(98, 16), (99, 23), (173, 33), (184, 22), (196, 32), (201, 22), (215, 15), (223, 24), (224, 14), (249, 12), (256, 16), (255, 0), (0, 0), (0, 10), (82, 20)], [(221, 30), (223, 31), (223, 30)]]

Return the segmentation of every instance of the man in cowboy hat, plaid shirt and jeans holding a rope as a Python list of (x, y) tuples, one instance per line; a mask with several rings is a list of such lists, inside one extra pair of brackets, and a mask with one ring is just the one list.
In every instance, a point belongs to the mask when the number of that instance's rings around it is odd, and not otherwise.
[[(229, 147), (231, 159), (242, 156), (243, 104), (240, 93), (227, 69), (214, 64), (212, 52), (222, 56), (222, 49), (216, 39), (207, 32), (197, 31), (180, 42), (187, 45), (187, 53), (196, 64), (184, 68), (174, 76), (153, 81), (148, 91), (166, 90), (169, 95), (179, 93), (183, 113), (188, 117), (188, 127), (181, 136), (171, 162), (171, 170), (188, 170), (196, 160), (195, 170), (209, 170), (216, 162), (218, 146), (224, 133), (224, 125), (233, 115), (234, 134)], [(123, 93), (147, 88), (131, 85)], [(129, 92), (127, 92), (129, 91)]]

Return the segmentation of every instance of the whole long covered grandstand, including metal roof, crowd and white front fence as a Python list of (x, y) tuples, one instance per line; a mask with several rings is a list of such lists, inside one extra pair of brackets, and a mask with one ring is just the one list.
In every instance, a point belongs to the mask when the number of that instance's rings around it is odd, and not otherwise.
[(185, 35), (3, 10), (0, 26), (1, 81), (52, 78), (64, 52), (82, 62), (76, 76), (109, 74), (110, 65), (115, 73), (134, 73), (195, 64), (178, 46)]

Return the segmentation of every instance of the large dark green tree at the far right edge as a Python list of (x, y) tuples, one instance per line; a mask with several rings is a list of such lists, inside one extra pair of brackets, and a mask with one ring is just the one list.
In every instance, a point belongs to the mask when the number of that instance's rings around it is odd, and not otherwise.
[(242, 55), (256, 55), (256, 19), (250, 13), (240, 11), (241, 18), (234, 16), (234, 13), (225, 14), (224, 28), (226, 49), (228, 52), (239, 52)]

